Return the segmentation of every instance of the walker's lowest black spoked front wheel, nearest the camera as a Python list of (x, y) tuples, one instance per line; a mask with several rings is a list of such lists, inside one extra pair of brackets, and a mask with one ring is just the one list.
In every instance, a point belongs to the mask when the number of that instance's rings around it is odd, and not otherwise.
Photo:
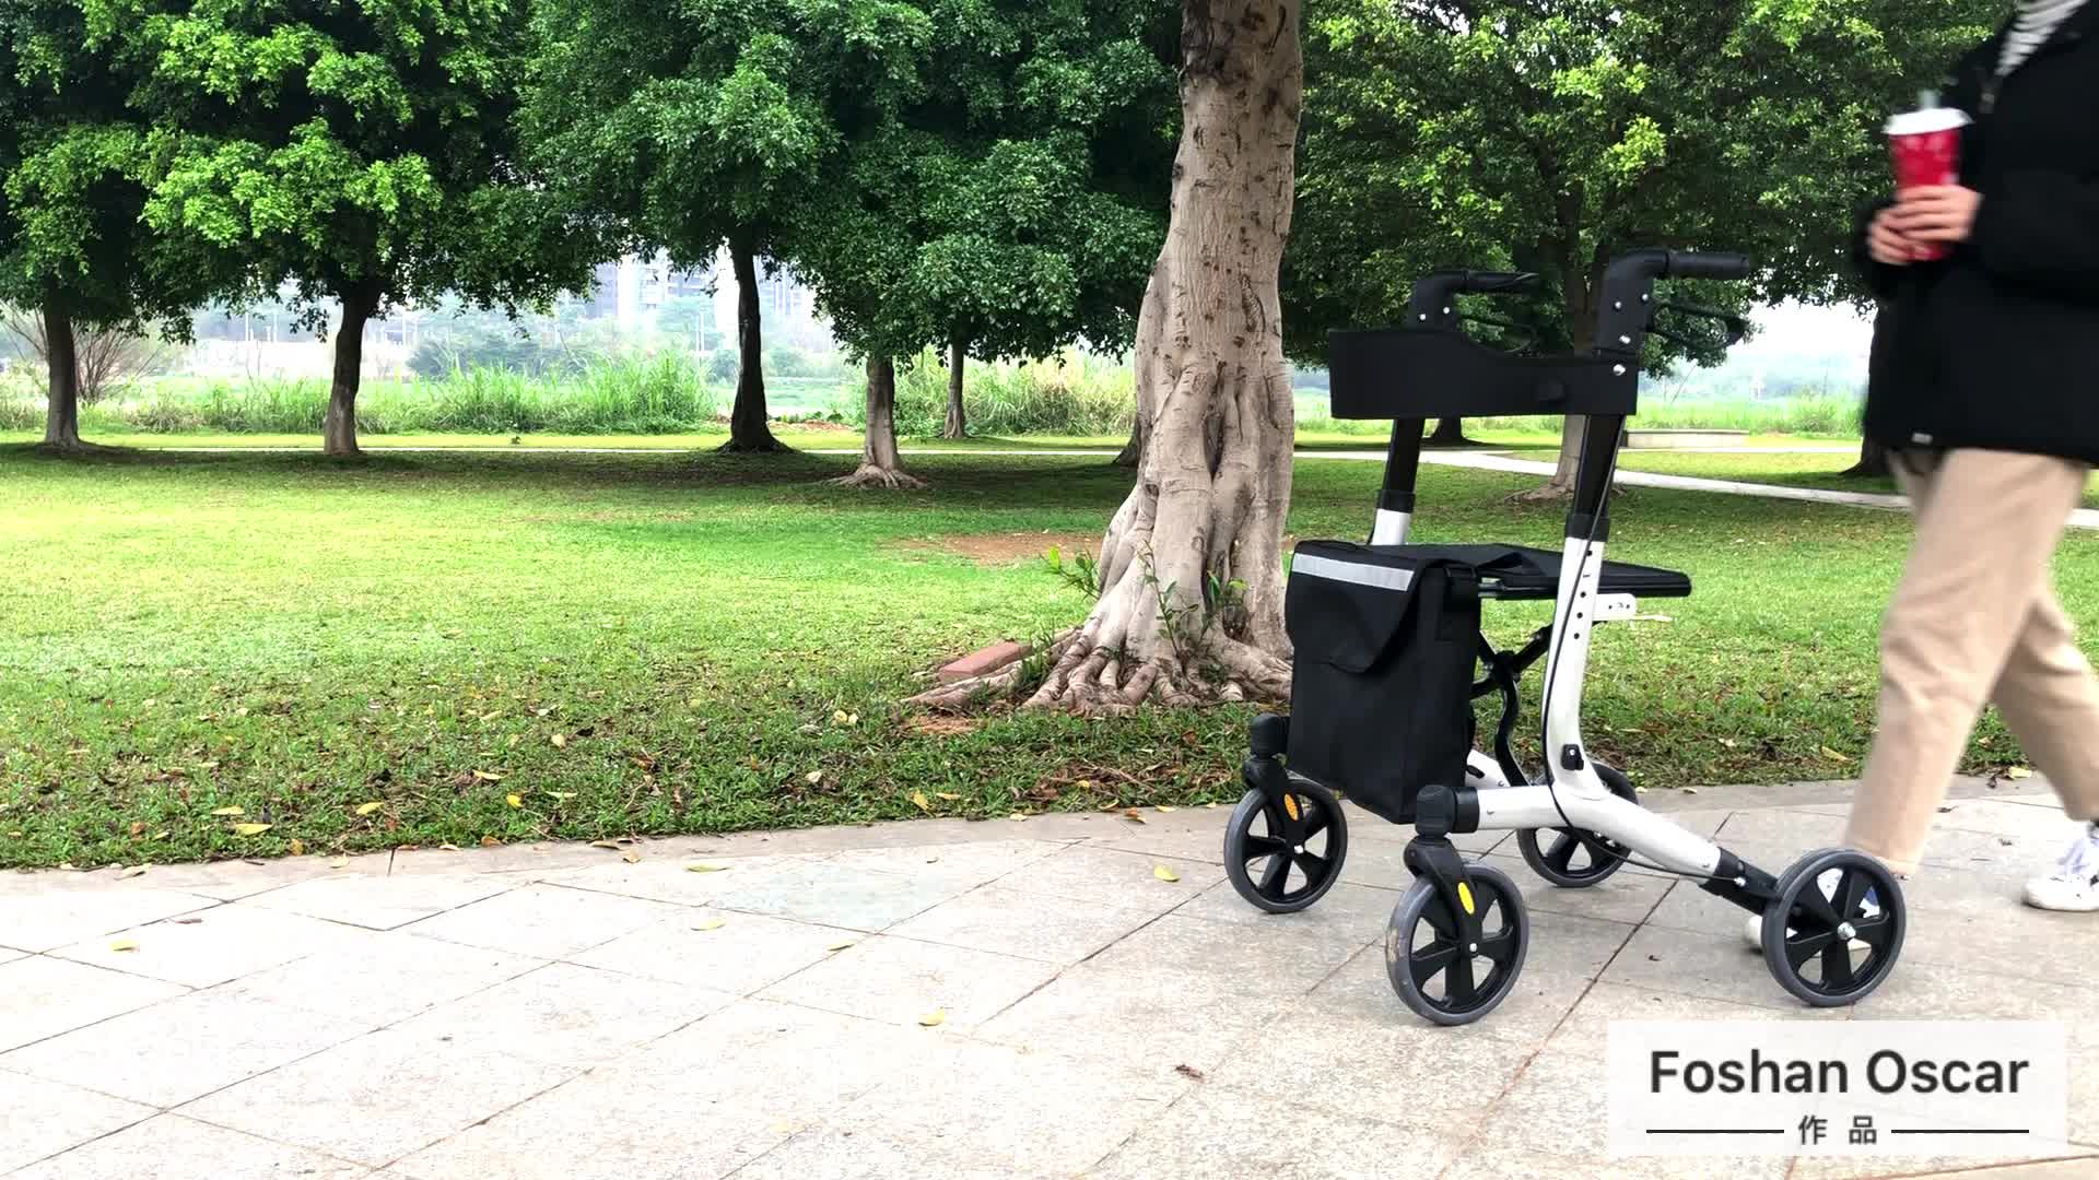
[(1392, 989), (1436, 1025), (1471, 1025), (1501, 1006), (1530, 951), (1530, 913), (1515, 882), (1486, 865), (1467, 865), (1465, 876), (1478, 936), (1427, 878), (1415, 878), (1385, 926)]

